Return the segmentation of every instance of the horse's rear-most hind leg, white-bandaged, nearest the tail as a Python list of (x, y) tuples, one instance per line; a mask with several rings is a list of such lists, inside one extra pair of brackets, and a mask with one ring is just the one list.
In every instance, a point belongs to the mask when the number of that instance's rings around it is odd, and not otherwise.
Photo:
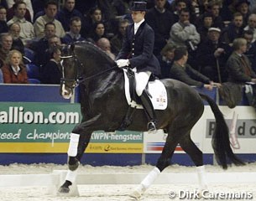
[(191, 157), (196, 165), (196, 173), (201, 190), (206, 189), (205, 167), (203, 165), (203, 157), (201, 150), (191, 140), (191, 132), (189, 131), (185, 137), (180, 140), (180, 147)]

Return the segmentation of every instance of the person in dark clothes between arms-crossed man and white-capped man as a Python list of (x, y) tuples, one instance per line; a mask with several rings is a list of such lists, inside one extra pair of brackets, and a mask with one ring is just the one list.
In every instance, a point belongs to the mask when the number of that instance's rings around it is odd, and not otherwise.
[(208, 29), (212, 27), (212, 14), (204, 13), (202, 15), (202, 23), (198, 24), (197, 32), (200, 34), (201, 43), (205, 42), (208, 35)]

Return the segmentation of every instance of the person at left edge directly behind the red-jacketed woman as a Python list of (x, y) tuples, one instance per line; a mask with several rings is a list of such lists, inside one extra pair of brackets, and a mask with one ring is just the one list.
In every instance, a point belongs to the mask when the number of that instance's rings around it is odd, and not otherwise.
[(10, 33), (0, 34), (0, 68), (5, 64), (9, 51), (12, 49), (13, 37)]

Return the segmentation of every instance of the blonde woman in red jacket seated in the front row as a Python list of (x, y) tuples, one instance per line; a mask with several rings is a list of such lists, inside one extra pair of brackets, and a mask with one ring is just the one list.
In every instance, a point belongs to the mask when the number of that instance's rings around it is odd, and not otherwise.
[(22, 63), (22, 54), (13, 49), (8, 53), (7, 64), (2, 68), (3, 81), (8, 84), (28, 84), (27, 70)]

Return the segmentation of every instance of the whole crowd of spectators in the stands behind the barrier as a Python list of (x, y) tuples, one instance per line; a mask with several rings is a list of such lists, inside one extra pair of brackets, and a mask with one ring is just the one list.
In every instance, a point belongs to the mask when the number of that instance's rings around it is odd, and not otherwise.
[[(25, 66), (34, 64), (39, 67), (39, 82), (59, 84), (59, 46), (76, 41), (90, 41), (114, 60), (132, 23), (130, 3), (0, 1), (0, 82), (29, 83)], [(212, 83), (255, 82), (253, 0), (148, 0), (147, 8), (145, 20), (154, 29), (160, 78), (208, 90)], [(238, 50), (241, 45), (243, 51)], [(18, 59), (20, 55), (23, 59)], [(20, 61), (14, 65), (14, 60)]]

